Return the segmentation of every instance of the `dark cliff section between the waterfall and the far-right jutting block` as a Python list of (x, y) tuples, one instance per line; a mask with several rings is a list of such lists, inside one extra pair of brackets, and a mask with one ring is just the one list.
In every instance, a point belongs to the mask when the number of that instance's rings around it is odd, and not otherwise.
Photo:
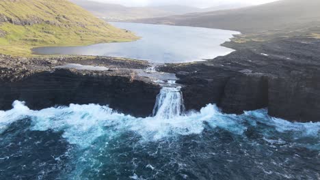
[(217, 104), (226, 113), (242, 114), (268, 106), (268, 76), (200, 65), (196, 71), (177, 74), (187, 110)]

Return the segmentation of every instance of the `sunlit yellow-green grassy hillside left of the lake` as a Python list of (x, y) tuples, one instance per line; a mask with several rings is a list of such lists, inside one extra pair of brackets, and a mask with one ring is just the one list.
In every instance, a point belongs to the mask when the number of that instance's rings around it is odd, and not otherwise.
[(137, 37), (67, 0), (0, 0), (0, 53), (31, 55), (37, 46), (126, 42)]

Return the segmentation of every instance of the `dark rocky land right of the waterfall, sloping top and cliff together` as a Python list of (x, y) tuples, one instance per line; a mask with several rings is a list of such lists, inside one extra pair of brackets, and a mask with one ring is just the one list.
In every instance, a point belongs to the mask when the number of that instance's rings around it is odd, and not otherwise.
[(268, 108), (290, 121), (320, 121), (320, 39), (224, 44), (237, 51), (201, 63), (165, 65), (177, 72), (187, 109), (216, 103), (226, 113)]

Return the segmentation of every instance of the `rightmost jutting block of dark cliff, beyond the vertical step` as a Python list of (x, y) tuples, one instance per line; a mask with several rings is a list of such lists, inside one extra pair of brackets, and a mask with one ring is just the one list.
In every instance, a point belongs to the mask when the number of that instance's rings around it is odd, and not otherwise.
[(320, 121), (320, 72), (270, 79), (269, 115), (301, 122)]

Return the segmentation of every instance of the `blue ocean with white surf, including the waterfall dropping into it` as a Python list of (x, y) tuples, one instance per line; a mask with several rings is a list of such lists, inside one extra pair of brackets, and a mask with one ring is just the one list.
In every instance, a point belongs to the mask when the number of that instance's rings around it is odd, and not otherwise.
[(0, 111), (1, 179), (319, 179), (320, 123), (214, 104), (183, 112), (179, 95), (164, 89), (147, 118), (16, 101)]

